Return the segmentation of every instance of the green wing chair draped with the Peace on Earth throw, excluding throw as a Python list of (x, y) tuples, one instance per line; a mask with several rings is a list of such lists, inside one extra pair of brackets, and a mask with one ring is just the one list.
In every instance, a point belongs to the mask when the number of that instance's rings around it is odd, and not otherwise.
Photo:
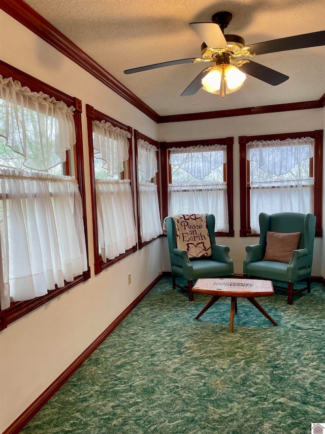
[[(176, 247), (176, 223), (173, 217), (166, 218), (166, 230), (169, 246), (169, 255), (172, 267), (173, 288), (179, 288), (188, 291), (188, 298), (193, 301), (193, 280), (209, 277), (225, 277), (234, 274), (233, 261), (229, 256), (229, 247), (221, 246), (215, 243), (214, 226), (215, 217), (208, 214), (206, 217), (207, 228), (211, 243), (211, 256), (202, 258), (189, 258), (186, 250)], [(188, 287), (176, 283), (176, 277), (187, 280)]]

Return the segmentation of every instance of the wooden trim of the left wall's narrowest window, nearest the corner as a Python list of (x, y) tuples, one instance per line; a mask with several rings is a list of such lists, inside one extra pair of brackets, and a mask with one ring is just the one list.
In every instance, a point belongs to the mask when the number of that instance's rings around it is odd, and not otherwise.
[(156, 240), (157, 238), (160, 238), (161, 235), (158, 235), (158, 237), (152, 238), (149, 241), (145, 241), (145, 242), (141, 241), (141, 228), (140, 228), (140, 211), (141, 210), (140, 210), (140, 188), (139, 188), (139, 173), (138, 173), (138, 139), (142, 139), (142, 140), (147, 141), (148, 143), (152, 144), (152, 146), (156, 147), (158, 150), (158, 152), (157, 152), (158, 171), (156, 173), (156, 184), (157, 184), (157, 193), (158, 193), (159, 212), (161, 210), (161, 204), (160, 204), (160, 187), (159, 187), (159, 165), (160, 165), (159, 142), (157, 140), (153, 140), (152, 138), (140, 133), (138, 130), (134, 130), (134, 145), (135, 145), (134, 158), (135, 158), (135, 167), (136, 167), (135, 182), (136, 182), (136, 194), (137, 194), (137, 218), (138, 218), (137, 229), (138, 229), (138, 245), (139, 245), (139, 250), (140, 250), (140, 249), (142, 249), (142, 247), (152, 243), (152, 241)]

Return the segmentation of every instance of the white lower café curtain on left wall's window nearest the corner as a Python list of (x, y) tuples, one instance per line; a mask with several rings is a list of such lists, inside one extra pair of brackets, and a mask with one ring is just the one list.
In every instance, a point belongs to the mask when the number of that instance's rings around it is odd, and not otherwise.
[(161, 228), (157, 186), (152, 182), (140, 182), (140, 227), (142, 242), (163, 234)]

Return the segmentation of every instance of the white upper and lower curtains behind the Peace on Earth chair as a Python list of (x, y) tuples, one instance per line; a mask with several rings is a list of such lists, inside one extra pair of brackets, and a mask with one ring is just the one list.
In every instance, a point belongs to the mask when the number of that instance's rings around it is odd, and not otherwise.
[(225, 162), (226, 146), (219, 144), (171, 149), (168, 214), (214, 214), (215, 232), (228, 232)]

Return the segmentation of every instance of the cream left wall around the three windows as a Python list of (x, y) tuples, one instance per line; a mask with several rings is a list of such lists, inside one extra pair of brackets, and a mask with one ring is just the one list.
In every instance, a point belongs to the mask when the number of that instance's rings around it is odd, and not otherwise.
[[(163, 262), (159, 239), (94, 276), (85, 104), (153, 139), (157, 138), (157, 125), (1, 10), (0, 29), (3, 61), (82, 100), (91, 267), (87, 282), (0, 332), (0, 432), (3, 432), (158, 276)], [(128, 273), (132, 274), (131, 285)]]

